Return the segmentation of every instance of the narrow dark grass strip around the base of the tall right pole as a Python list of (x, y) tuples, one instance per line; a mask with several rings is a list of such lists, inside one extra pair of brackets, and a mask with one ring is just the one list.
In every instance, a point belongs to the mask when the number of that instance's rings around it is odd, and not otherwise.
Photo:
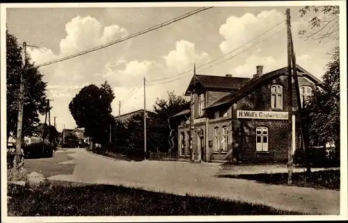
[[(259, 183), (276, 185), (288, 185), (287, 173), (239, 175), (226, 174), (219, 177), (246, 179), (258, 181)], [(310, 177), (306, 175), (306, 172), (293, 173), (292, 185), (303, 188), (340, 190), (340, 170), (322, 170), (312, 172)]]

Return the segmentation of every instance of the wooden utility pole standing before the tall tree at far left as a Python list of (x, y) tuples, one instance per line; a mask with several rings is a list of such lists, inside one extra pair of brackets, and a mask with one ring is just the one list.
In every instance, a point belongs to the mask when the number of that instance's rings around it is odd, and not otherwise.
[(15, 167), (20, 167), (21, 162), (21, 146), (22, 146), (22, 121), (23, 121), (23, 106), (24, 106), (24, 67), (26, 66), (26, 42), (23, 42), (22, 69), (20, 71), (19, 83), (19, 106), (18, 106), (18, 121), (17, 121), (17, 138), (16, 138), (16, 156)]

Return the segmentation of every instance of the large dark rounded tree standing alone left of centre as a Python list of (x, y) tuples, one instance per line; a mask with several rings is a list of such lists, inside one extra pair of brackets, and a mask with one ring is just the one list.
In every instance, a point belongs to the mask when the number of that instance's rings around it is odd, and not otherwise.
[(69, 110), (77, 126), (84, 127), (93, 142), (109, 142), (109, 126), (115, 122), (111, 115), (114, 98), (113, 90), (105, 81), (101, 88), (93, 84), (82, 88), (70, 101)]

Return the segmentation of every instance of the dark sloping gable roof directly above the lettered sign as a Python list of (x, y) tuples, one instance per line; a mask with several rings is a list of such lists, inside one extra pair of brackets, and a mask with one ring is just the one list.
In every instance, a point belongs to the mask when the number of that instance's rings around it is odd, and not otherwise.
[[(314, 83), (317, 83), (319, 85), (322, 84), (322, 81), (317, 79), (315, 76), (313, 76), (313, 74), (310, 74), (309, 72), (306, 71), (306, 69), (303, 69), (299, 65), (296, 65), (296, 71), (298, 72), (299, 76), (306, 76), (308, 79), (310, 79)], [(272, 72), (269, 72), (257, 78), (251, 79), (250, 81), (248, 81), (248, 83), (244, 84), (242, 88), (240, 88), (236, 92), (227, 94), (226, 96), (219, 99), (219, 101), (216, 101), (214, 104), (207, 106), (207, 108), (205, 109), (214, 108), (217, 106), (221, 106), (223, 104), (235, 103), (239, 101), (240, 99), (246, 97), (248, 94), (251, 94), (256, 88), (260, 88), (262, 85), (267, 84), (270, 81), (285, 74), (287, 74), (287, 67), (276, 69)]]

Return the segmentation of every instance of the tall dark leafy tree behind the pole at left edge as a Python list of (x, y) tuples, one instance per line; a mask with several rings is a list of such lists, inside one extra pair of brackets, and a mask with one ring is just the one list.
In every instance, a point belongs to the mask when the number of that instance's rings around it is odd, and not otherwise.
[[(19, 82), (22, 72), (22, 48), (17, 38), (6, 30), (6, 111), (7, 111), (7, 139), (17, 134), (17, 119), (19, 105)], [(26, 58), (24, 79), (24, 107), (22, 121), (22, 137), (35, 135), (35, 126), (40, 122), (39, 115), (45, 113), (46, 86), (42, 81), (43, 75), (38, 68)]]

